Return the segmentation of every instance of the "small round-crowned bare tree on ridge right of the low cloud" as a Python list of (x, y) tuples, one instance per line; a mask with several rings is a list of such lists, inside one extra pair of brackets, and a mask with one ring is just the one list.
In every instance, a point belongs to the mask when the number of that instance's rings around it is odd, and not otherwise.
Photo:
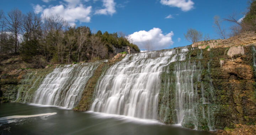
[(202, 40), (202, 32), (197, 31), (196, 29), (188, 29), (187, 33), (184, 34), (185, 38), (187, 39), (187, 41), (191, 42), (191, 43), (195, 43), (198, 41)]

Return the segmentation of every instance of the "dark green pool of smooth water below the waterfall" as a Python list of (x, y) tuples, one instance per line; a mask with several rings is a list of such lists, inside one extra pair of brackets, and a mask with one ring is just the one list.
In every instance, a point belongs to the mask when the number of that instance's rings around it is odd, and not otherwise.
[[(1, 120), (13, 115), (44, 113), (57, 114)], [(0, 120), (0, 133), (14, 135), (211, 135), (157, 121), (22, 103), (0, 103)]]

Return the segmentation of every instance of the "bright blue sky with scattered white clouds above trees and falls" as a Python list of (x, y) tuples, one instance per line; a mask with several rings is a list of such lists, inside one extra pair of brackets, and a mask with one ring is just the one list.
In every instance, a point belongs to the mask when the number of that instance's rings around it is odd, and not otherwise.
[[(5, 13), (13, 8), (23, 13), (58, 13), (70, 24), (91, 30), (122, 31), (141, 50), (146, 41), (156, 50), (189, 45), (183, 36), (188, 28), (219, 38), (213, 17), (245, 12), (246, 7), (247, 0), (1, 0), (0, 4)], [(239, 14), (238, 19), (243, 16)], [(230, 25), (223, 23), (227, 29)]]

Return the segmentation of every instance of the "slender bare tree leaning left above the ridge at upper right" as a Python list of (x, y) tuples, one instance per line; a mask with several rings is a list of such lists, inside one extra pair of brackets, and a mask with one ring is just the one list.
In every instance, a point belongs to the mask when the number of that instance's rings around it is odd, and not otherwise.
[(222, 20), (220, 20), (218, 15), (215, 15), (214, 17), (214, 28), (215, 32), (223, 39), (226, 39), (226, 33), (225, 28), (222, 27)]

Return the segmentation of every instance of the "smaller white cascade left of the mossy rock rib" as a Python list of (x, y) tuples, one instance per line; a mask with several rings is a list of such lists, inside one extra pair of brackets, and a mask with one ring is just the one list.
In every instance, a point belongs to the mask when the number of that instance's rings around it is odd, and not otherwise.
[(56, 67), (44, 78), (34, 93), (33, 103), (65, 108), (75, 107), (86, 82), (93, 75), (98, 64), (99, 62)]

